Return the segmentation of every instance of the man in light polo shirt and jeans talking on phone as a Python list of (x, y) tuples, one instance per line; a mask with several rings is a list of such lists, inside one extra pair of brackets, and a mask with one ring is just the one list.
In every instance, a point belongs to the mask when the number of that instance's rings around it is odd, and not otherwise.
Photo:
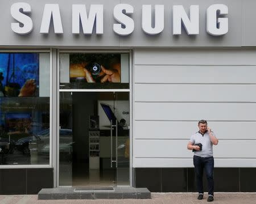
[[(213, 201), (213, 192), (214, 192), (214, 182), (213, 182), (213, 168), (214, 168), (214, 159), (213, 159), (213, 150), (212, 145), (218, 145), (218, 139), (215, 137), (214, 133), (207, 126), (206, 120), (200, 120), (198, 122), (199, 131), (191, 136), (190, 141), (188, 142), (188, 150), (194, 151), (193, 164), (195, 166), (196, 172), (196, 182), (197, 190), (199, 196), (197, 199), (203, 199), (204, 190), (203, 190), (203, 171), (205, 173), (208, 181), (208, 202)], [(201, 148), (200, 144), (201, 143)]]

